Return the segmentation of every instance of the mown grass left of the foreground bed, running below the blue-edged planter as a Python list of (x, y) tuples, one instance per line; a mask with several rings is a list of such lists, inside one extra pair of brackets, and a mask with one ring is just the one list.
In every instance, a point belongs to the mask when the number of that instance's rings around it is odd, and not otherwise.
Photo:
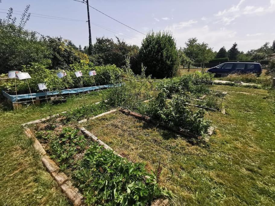
[(0, 112), (0, 205), (71, 204), (43, 167), (21, 124), (98, 102), (104, 92), (71, 97), (67, 103), (55, 106)]

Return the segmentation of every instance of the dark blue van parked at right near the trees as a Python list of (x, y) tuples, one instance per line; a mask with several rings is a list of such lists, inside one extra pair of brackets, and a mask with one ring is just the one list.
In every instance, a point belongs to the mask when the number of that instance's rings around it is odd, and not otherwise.
[(222, 76), (232, 73), (253, 73), (260, 76), (262, 73), (262, 67), (260, 63), (253, 62), (225, 62), (216, 67), (208, 69), (207, 72), (215, 73)]

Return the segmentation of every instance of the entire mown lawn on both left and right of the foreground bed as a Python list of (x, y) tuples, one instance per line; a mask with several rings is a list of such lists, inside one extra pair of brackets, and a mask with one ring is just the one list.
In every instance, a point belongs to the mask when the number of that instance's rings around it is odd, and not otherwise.
[[(120, 113), (85, 127), (130, 160), (146, 162), (148, 170), (155, 170), (160, 159), (161, 184), (174, 192), (175, 205), (274, 205), (275, 119), (264, 98), (267, 91), (222, 85), (213, 89), (228, 91), (227, 114), (207, 115), (217, 129), (204, 147)], [(20, 124), (100, 101), (100, 94), (0, 112), (0, 205), (70, 204)]]

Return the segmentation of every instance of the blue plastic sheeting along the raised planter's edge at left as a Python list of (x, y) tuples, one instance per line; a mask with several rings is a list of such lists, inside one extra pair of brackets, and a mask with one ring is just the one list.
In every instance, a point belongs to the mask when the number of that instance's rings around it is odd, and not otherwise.
[[(124, 84), (124, 83), (123, 83)], [(102, 86), (94, 86), (94, 87), (82, 87), (82, 88), (75, 88), (75, 89), (65, 89), (61, 91), (49, 91), (49, 92), (39, 92), (39, 93), (31, 93), (31, 94), (18, 94), (16, 95), (9, 95), (5, 91), (2, 90), (2, 93), (5, 97), (8, 98), (11, 102), (16, 102), (21, 99), (29, 99), (29, 98), (35, 98), (35, 97), (45, 97), (45, 96), (52, 96), (56, 94), (74, 94), (74, 93), (80, 93), (80, 92), (87, 92), (87, 91), (94, 91), (97, 89), (104, 89), (104, 88), (111, 88), (111, 87), (120, 87), (122, 84), (108, 84), (108, 85), (102, 85)]]

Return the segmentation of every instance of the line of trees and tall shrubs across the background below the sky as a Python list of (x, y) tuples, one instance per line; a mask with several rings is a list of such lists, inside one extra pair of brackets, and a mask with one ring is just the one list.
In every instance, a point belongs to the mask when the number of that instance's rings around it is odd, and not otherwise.
[[(92, 45), (75, 46), (70, 40), (62, 37), (43, 36), (34, 31), (24, 29), (29, 20), (29, 5), (21, 16), (19, 25), (12, 17), (10, 8), (6, 19), (0, 19), (0, 73), (9, 70), (20, 70), (22, 66), (32, 62), (40, 62), (52, 69), (69, 69), (69, 65), (85, 61), (90, 65), (114, 64), (120, 68), (130, 68), (135, 74), (145, 70), (145, 74), (153, 78), (172, 77), (179, 65), (200, 64), (204, 67), (214, 58), (229, 60), (257, 60), (275, 52), (275, 41), (270, 46), (265, 43), (259, 49), (247, 53), (238, 50), (237, 43), (226, 51), (222, 47), (219, 52), (197, 38), (190, 38), (184, 47), (177, 48), (176, 40), (169, 31), (150, 31), (142, 40), (141, 46), (127, 44), (116, 37), (98, 37)], [(130, 64), (130, 65), (129, 65)]]

